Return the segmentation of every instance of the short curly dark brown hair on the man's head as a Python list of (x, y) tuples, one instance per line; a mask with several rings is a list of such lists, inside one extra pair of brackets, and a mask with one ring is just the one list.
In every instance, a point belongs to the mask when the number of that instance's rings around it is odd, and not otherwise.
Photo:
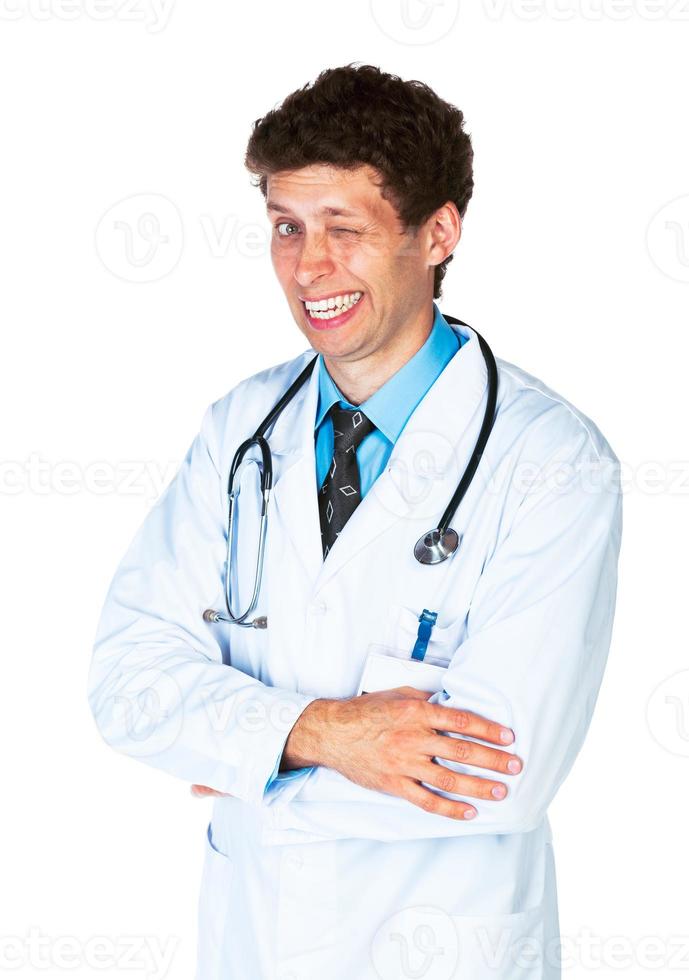
[[(257, 119), (244, 163), (264, 197), (268, 177), (281, 170), (368, 164), (405, 229), (416, 229), (447, 201), (464, 217), (474, 154), (463, 123), (463, 113), (423, 82), (353, 63), (327, 68)], [(435, 268), (436, 299), (451, 260)]]

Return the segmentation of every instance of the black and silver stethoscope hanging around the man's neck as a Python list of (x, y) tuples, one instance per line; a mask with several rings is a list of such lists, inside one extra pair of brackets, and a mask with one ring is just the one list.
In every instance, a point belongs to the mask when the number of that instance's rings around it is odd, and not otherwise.
[[(443, 317), (448, 321), (448, 323), (456, 323), (463, 327), (469, 326), (469, 324), (464, 323), (463, 320), (457, 320), (455, 317), (447, 316), (444, 313)], [(437, 565), (439, 562), (445, 561), (446, 558), (449, 558), (457, 551), (457, 548), (459, 547), (459, 535), (453, 528), (450, 527), (450, 521), (452, 520), (452, 516), (459, 507), (464, 495), (471, 485), (471, 481), (474, 478), (478, 464), (481, 461), (483, 451), (486, 448), (486, 443), (488, 442), (491, 429), (493, 428), (493, 422), (495, 421), (495, 405), (498, 396), (498, 369), (490, 347), (479, 333), (476, 331), (474, 331), (474, 333), (478, 338), (481, 353), (483, 354), (483, 358), (486, 362), (486, 371), (488, 374), (488, 397), (486, 399), (486, 410), (483, 415), (483, 422), (481, 423), (481, 429), (476, 440), (474, 451), (471, 454), (471, 459), (469, 460), (461, 480), (457, 484), (457, 489), (453, 493), (452, 499), (445, 508), (445, 511), (438, 521), (437, 526), (431, 528), (430, 531), (426, 531), (425, 534), (422, 534), (414, 545), (414, 557), (422, 565)], [(278, 418), (285, 406), (288, 405), (294, 398), (307, 378), (309, 378), (317, 360), (318, 355), (316, 355), (316, 357), (314, 357), (313, 360), (306, 365), (301, 374), (292, 382), (284, 395), (282, 395), (270, 412), (268, 412), (266, 417), (254, 432), (253, 436), (251, 436), (250, 439), (245, 439), (234, 455), (227, 484), (228, 529), (227, 558), (225, 561), (225, 605), (227, 607), (227, 616), (225, 616), (223, 613), (217, 612), (215, 609), (206, 609), (203, 614), (203, 618), (208, 623), (231, 623), (235, 626), (250, 626), (253, 629), (266, 629), (268, 626), (268, 619), (266, 616), (257, 616), (248, 622), (246, 621), (256, 608), (256, 603), (258, 602), (258, 597), (261, 591), (261, 578), (263, 576), (263, 559), (268, 521), (268, 503), (270, 500), (270, 491), (273, 486), (273, 460), (265, 433)], [(235, 616), (235, 614), (232, 612), (230, 556), (232, 554), (232, 544), (234, 541), (239, 489), (235, 488), (234, 482), (235, 475), (242, 463), (242, 460), (253, 446), (257, 446), (261, 453), (261, 462), (257, 463), (261, 471), (261, 517), (258, 534), (258, 548), (256, 553), (256, 570), (254, 572), (254, 588), (249, 605), (247, 606), (245, 612)]]

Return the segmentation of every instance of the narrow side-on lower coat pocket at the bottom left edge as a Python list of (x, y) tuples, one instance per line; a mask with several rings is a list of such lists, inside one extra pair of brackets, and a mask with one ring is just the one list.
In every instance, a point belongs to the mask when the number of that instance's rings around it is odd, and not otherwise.
[(230, 920), (233, 879), (232, 860), (213, 843), (209, 823), (198, 908), (197, 980), (219, 980), (223, 963), (227, 969), (225, 944), (233, 933)]

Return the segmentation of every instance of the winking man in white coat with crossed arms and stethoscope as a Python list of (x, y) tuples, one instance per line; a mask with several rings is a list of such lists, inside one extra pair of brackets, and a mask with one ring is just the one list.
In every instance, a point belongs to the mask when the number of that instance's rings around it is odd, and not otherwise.
[[(547, 808), (609, 647), (616, 457), (498, 358), (494, 426), (451, 521), (459, 549), (420, 564), (488, 397), (475, 331), (434, 302), (473, 187), (462, 113), (370, 65), (327, 70), (256, 121), (246, 163), (308, 349), (207, 409), (110, 587), (94, 717), (114, 748), (214, 797), (200, 980), (552, 980)], [(256, 297), (257, 337), (262, 315)], [(267, 433), (267, 628), (208, 622), (207, 607), (225, 614), (235, 451), (316, 354)], [(237, 608), (258, 458), (236, 481)], [(414, 673), (428, 665), (430, 687)]]

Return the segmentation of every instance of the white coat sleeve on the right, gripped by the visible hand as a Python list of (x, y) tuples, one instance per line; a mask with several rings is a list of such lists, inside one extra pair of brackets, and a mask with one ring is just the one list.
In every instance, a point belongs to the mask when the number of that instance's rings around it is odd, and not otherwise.
[(522, 496), (479, 577), (445, 690), (430, 699), (512, 727), (515, 741), (506, 748), (523, 759), (520, 774), (442, 762), (504, 782), (506, 798), (436, 790), (478, 811), (473, 820), (455, 820), (317, 766), (286, 804), (266, 794), (270, 827), (393, 841), (518, 833), (540, 824), (582, 746), (607, 660), (622, 529), (619, 464), (608, 452), (592, 458), (580, 432), (557, 469), (550, 467), (554, 475)]

